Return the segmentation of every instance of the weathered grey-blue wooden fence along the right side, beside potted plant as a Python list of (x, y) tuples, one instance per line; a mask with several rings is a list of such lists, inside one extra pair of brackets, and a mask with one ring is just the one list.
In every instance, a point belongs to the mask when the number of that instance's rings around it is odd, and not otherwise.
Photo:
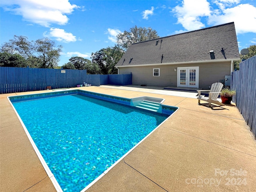
[(231, 89), (236, 90), (233, 101), (256, 139), (256, 56), (239, 66), (231, 76)]

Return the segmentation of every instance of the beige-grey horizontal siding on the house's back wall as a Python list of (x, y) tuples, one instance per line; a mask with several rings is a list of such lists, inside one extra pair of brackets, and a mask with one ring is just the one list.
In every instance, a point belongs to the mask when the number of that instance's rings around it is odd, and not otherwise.
[[(199, 88), (208, 89), (213, 83), (230, 75), (230, 62), (202, 63), (202, 64), (175, 64), (119, 68), (119, 74), (132, 72), (132, 84), (148, 86), (177, 86), (178, 67), (199, 66)], [(153, 76), (153, 68), (160, 68), (160, 76)]]

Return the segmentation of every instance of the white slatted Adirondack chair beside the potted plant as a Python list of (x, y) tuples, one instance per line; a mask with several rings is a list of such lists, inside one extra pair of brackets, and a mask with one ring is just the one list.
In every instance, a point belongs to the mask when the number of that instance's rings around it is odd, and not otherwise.
[[(200, 100), (202, 100), (202, 101), (208, 102), (209, 103), (209, 107), (211, 107), (211, 103), (223, 106), (224, 104), (222, 104), (221, 102), (219, 102), (217, 100), (222, 87), (223, 87), (223, 84), (219, 82), (219, 83), (212, 84), (211, 90), (197, 90), (197, 92), (198, 92), (198, 97), (197, 97), (198, 104), (200, 104)], [(208, 91), (209, 92), (209, 97), (201, 96), (201, 92), (202, 91)]]

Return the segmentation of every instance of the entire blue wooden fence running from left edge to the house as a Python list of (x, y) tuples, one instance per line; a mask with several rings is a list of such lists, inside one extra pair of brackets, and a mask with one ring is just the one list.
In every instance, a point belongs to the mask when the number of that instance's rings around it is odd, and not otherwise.
[(132, 74), (92, 75), (86, 70), (0, 67), (0, 93), (71, 88), (87, 82), (93, 86), (132, 84)]

